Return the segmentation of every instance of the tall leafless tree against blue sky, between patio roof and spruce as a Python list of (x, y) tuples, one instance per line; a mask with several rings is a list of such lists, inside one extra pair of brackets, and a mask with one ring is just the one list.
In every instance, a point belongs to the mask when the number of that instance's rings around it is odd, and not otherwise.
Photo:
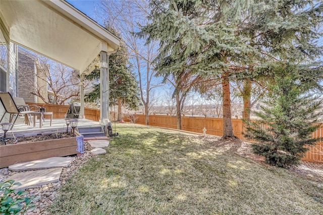
[(138, 74), (140, 97), (144, 105), (145, 123), (148, 124), (148, 115), (152, 102), (151, 90), (161, 86), (161, 80), (154, 78), (155, 71), (152, 64), (156, 56), (158, 43), (151, 41), (146, 44), (144, 39), (138, 37), (141, 25), (147, 22), (146, 17), (150, 9), (146, 1), (109, 1), (101, 0), (99, 8), (101, 18), (107, 25), (113, 26), (125, 40), (130, 53), (130, 62)]

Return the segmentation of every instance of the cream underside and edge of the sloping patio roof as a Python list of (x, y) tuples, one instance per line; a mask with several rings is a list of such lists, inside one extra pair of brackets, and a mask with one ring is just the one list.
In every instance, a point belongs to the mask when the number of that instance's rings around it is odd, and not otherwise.
[(83, 72), (120, 38), (62, 0), (1, 1), (10, 40)]

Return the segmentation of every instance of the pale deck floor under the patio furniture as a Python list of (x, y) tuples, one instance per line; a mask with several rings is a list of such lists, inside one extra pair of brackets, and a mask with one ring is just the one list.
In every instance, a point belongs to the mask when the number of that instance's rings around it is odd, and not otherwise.
[[(87, 120), (87, 119), (78, 119), (78, 126), (77, 127), (98, 127), (101, 124), (96, 121)], [(12, 131), (14, 134), (26, 134), (26, 133), (37, 133), (37, 132), (46, 132), (46, 131), (56, 131), (61, 129), (66, 129), (66, 124), (64, 119), (53, 119), (51, 126), (49, 126), (49, 119), (45, 119), (42, 128), (39, 128), (39, 120), (36, 120), (36, 127), (33, 125), (26, 125), (24, 122), (15, 123)], [(69, 127), (70, 129), (70, 127)], [(11, 134), (12, 131), (8, 131), (7, 134)], [(0, 126), (0, 136), (3, 136), (4, 132), (2, 127)]]

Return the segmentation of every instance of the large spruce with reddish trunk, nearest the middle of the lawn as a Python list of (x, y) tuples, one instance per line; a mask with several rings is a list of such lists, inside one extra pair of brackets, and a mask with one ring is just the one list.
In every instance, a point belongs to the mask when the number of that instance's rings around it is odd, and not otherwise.
[(150, 1), (151, 23), (142, 28), (147, 41), (160, 41), (155, 69), (160, 75), (217, 77), (223, 87), (224, 137), (234, 137), (231, 121), (230, 78), (235, 63), (248, 60), (254, 50), (235, 33), (232, 19), (241, 1)]

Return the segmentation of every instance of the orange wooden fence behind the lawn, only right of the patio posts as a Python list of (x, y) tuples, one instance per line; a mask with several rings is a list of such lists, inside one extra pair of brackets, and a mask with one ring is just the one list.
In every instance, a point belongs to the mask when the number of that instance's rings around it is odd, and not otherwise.
[[(137, 124), (145, 124), (145, 115), (143, 114), (124, 114), (123, 120), (126, 122), (134, 122)], [(176, 129), (176, 117), (167, 115), (149, 115), (149, 125), (164, 128)], [(248, 140), (242, 134), (242, 120), (232, 119), (233, 133), (241, 140)], [(222, 118), (204, 118), (204, 117), (182, 117), (182, 130), (196, 133), (203, 133), (206, 129), (206, 134), (223, 136), (223, 119)], [(313, 132), (313, 137), (323, 136), (323, 126)], [(323, 142), (319, 141), (314, 146), (308, 146), (303, 160), (310, 162), (323, 163)]]

